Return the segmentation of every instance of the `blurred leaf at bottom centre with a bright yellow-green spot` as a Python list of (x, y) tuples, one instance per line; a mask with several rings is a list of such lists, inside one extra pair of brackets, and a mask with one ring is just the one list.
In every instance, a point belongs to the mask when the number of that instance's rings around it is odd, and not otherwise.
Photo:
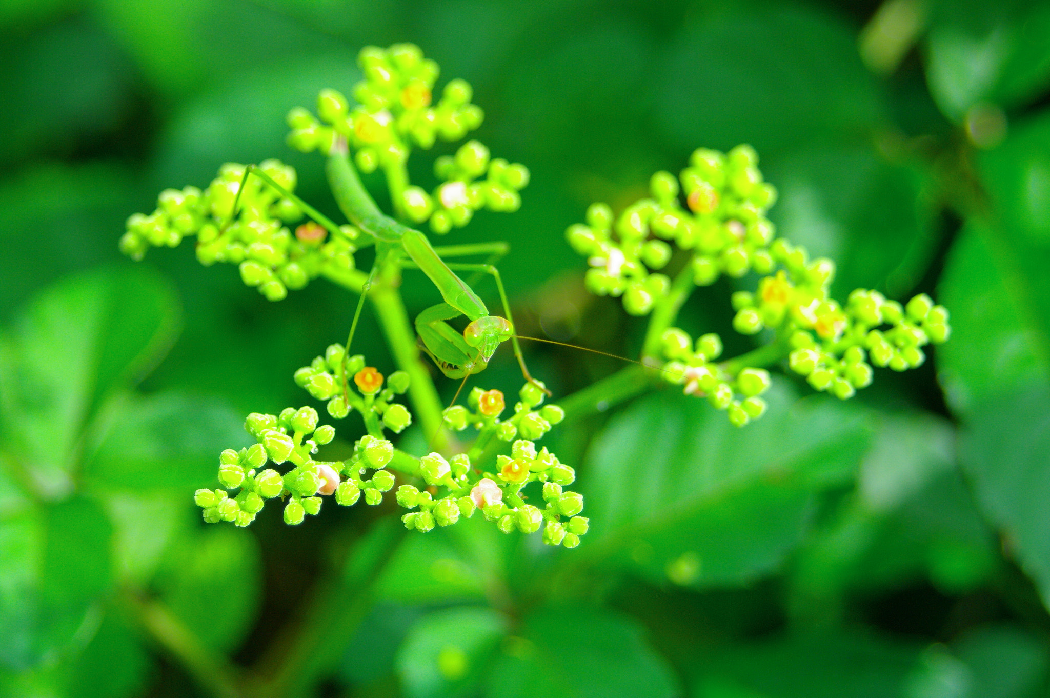
[(491, 609), (454, 608), (421, 618), (398, 652), (408, 698), (475, 695), (507, 619)]

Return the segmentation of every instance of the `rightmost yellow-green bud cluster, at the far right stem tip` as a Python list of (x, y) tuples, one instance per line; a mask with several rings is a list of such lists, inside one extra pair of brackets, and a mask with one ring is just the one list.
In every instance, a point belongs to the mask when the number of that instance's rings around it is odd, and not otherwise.
[[(916, 368), (926, 360), (923, 346), (945, 342), (951, 334), (948, 311), (926, 294), (902, 308), (878, 292), (858, 289), (844, 311), (834, 301), (823, 301), (818, 310), (815, 324), (802, 323), (806, 329), (792, 335), (789, 365), (814, 388), (843, 400), (872, 383), (867, 359), (894, 371)], [(880, 330), (886, 324), (888, 330)]]

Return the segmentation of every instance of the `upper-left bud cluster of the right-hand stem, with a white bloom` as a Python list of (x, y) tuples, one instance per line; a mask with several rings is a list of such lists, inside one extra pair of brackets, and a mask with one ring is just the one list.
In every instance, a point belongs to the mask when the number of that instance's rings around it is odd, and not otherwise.
[[(670, 287), (667, 276), (650, 271), (671, 259), (665, 240), (693, 251), (689, 263), (697, 285), (711, 284), (721, 274), (772, 271), (774, 227), (765, 211), (776, 190), (762, 182), (757, 164), (751, 146), (737, 146), (728, 154), (701, 148), (678, 179), (669, 172), (654, 174), (652, 197), (628, 206), (615, 219), (605, 204), (592, 205), (587, 225), (570, 226), (566, 232), (569, 245), (588, 257), (587, 288), (602, 296), (623, 296), (632, 315), (648, 314)], [(685, 207), (679, 193), (685, 194)]]

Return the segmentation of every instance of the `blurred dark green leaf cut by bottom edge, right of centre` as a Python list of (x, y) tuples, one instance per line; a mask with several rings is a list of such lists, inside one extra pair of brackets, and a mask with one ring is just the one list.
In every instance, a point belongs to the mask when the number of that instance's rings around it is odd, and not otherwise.
[(693, 662), (695, 698), (900, 696), (918, 649), (862, 633), (754, 642)]

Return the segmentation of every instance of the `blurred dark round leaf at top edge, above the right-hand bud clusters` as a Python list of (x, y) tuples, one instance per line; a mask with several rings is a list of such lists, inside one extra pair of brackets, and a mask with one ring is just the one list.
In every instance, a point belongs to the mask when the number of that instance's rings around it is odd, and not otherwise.
[(700, 15), (668, 48), (657, 122), (678, 148), (763, 156), (872, 128), (882, 107), (848, 27), (800, 4)]

